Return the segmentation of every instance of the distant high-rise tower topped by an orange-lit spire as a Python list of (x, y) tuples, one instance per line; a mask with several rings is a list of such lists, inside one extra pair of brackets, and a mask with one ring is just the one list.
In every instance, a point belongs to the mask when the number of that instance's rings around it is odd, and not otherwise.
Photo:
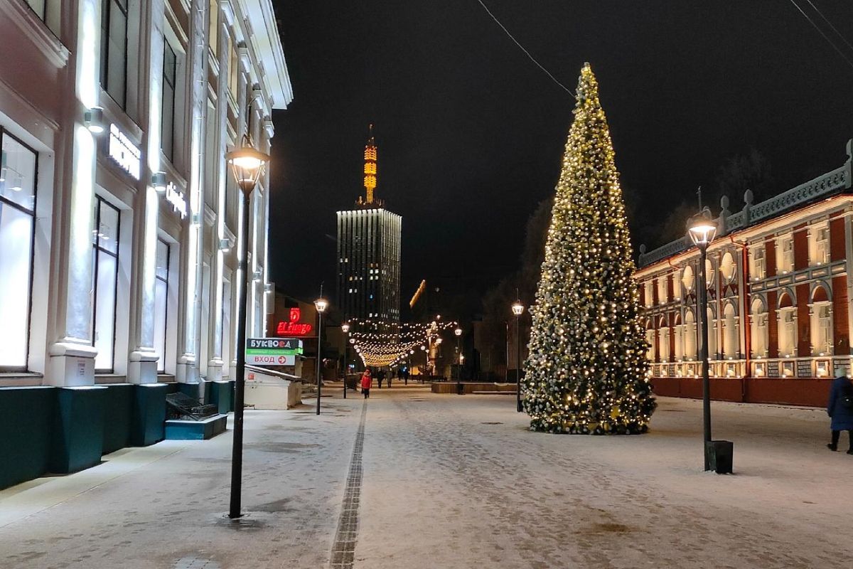
[(373, 125), (364, 147), (364, 196), (338, 212), (338, 306), (348, 319), (400, 321), (400, 229), (403, 218), (376, 199)]

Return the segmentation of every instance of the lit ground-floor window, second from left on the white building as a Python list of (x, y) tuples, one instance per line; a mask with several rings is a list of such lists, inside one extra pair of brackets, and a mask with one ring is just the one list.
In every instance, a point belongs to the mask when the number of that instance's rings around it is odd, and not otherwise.
[(97, 350), (96, 372), (113, 372), (115, 351), (115, 299), (119, 276), (119, 210), (102, 198), (95, 202), (92, 230), (93, 260), (92, 345)]

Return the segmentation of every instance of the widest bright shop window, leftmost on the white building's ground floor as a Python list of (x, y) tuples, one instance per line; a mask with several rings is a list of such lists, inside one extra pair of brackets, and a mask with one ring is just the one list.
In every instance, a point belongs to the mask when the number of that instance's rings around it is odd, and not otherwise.
[(30, 334), (36, 153), (0, 131), (0, 369), (26, 369)]

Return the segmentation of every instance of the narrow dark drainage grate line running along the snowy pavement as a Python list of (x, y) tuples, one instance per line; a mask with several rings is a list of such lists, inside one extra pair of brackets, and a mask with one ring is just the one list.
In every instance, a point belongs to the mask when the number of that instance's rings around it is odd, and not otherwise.
[(358, 504), (362, 493), (362, 450), (364, 448), (364, 422), (367, 419), (367, 400), (362, 404), (362, 419), (358, 424), (356, 444), (352, 447), (350, 470), (346, 475), (344, 503), (340, 507), (338, 530), (334, 534), (330, 569), (351, 569), (355, 561), (358, 538)]

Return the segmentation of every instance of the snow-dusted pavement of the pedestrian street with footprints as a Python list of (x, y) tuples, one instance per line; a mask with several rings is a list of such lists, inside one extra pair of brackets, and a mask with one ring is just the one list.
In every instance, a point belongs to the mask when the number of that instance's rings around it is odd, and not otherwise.
[[(222, 517), (229, 434), (168, 442), (0, 492), (0, 566), (328, 566), (363, 399), (325, 392), (319, 418), (247, 413), (246, 522)], [(531, 433), (507, 396), (395, 386), (367, 405), (358, 569), (853, 560), (853, 456), (826, 449), (820, 409), (714, 403), (721, 476), (702, 472), (698, 401), (659, 399), (633, 437)]]

